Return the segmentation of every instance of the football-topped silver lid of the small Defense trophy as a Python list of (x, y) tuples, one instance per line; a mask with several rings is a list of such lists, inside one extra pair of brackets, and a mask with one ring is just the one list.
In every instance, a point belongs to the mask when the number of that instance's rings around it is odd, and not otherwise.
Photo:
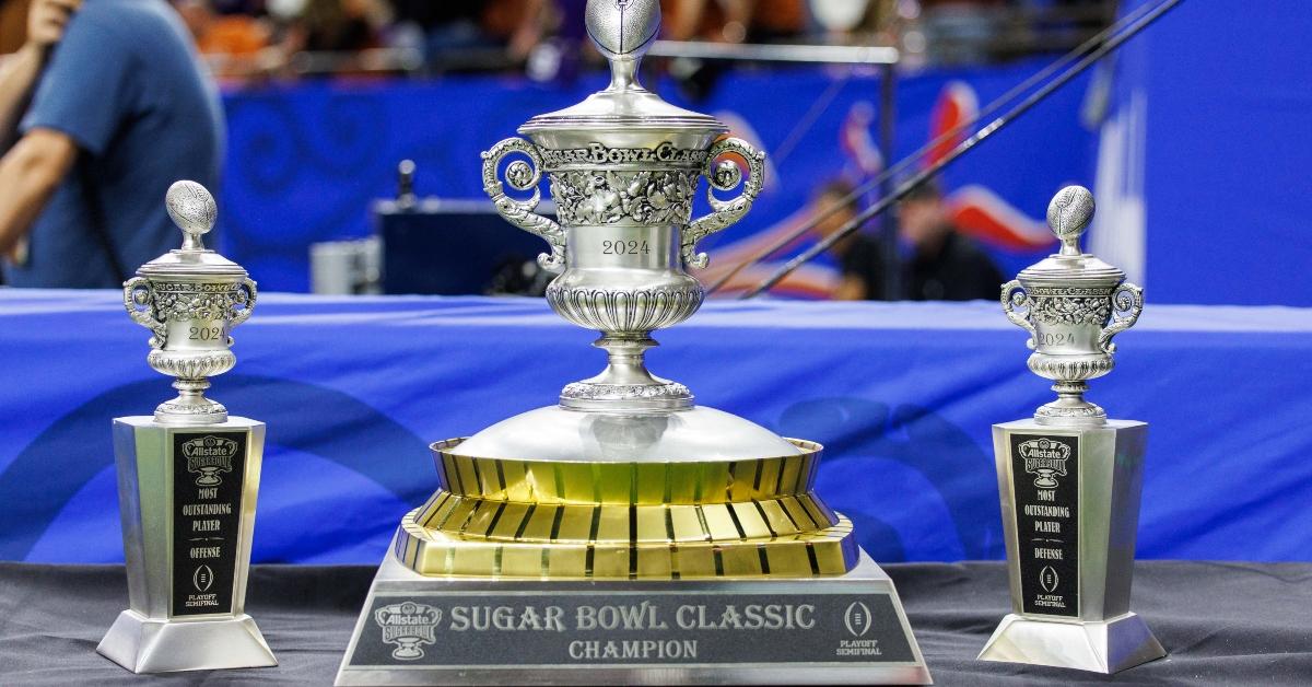
[(1048, 229), (1061, 240), (1061, 250), (1025, 268), (1019, 278), (1026, 286), (1106, 286), (1126, 280), (1119, 268), (1080, 250), (1080, 236), (1093, 221), (1093, 193), (1084, 187), (1061, 189), (1048, 205)]

